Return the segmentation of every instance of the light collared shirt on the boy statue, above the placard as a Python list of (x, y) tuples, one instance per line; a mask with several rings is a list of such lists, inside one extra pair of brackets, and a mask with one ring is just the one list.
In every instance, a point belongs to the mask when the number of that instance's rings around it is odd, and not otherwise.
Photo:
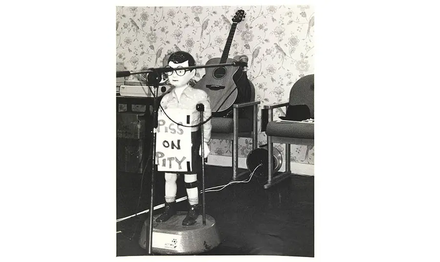
[[(193, 87), (186, 87), (180, 95), (180, 100), (177, 99), (175, 88), (171, 89), (171, 92), (165, 94), (160, 101), (162, 108), (169, 109), (190, 109), (192, 111), (192, 123), (191, 126), (195, 126), (200, 123), (200, 112), (196, 109), (197, 104), (203, 104), (205, 110), (203, 112), (203, 121), (206, 121), (211, 116), (211, 103), (209, 102), (208, 94)], [(159, 108), (161, 111), (162, 109)], [(197, 131), (198, 127), (191, 128), (191, 131)], [(203, 141), (209, 142), (211, 139), (211, 120), (203, 125)]]

